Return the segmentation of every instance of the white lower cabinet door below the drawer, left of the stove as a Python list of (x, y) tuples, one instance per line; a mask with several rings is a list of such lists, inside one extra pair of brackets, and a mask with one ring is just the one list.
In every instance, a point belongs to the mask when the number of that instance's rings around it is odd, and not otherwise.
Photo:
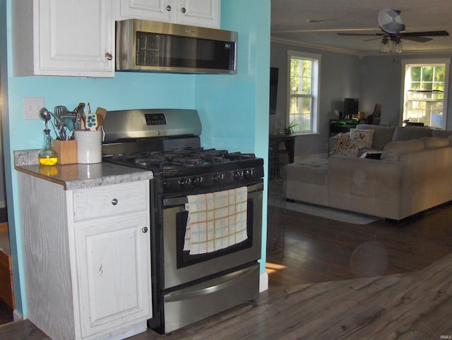
[(76, 226), (81, 336), (150, 318), (150, 231), (147, 214)]

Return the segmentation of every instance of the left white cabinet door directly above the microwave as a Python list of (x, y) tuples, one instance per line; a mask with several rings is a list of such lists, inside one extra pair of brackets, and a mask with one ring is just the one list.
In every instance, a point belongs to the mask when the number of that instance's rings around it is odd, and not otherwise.
[(169, 22), (172, 0), (120, 0), (117, 20), (136, 18)]

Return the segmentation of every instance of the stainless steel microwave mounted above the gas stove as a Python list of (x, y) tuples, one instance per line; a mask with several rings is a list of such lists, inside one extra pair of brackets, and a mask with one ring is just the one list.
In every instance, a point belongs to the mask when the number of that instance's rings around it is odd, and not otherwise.
[(129, 19), (116, 22), (116, 70), (237, 73), (237, 32)]

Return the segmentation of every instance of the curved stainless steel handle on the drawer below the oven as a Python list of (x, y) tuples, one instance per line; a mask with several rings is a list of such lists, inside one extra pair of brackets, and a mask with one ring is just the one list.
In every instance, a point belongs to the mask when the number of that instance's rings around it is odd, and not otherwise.
[(246, 277), (246, 275), (253, 271), (256, 271), (255, 266), (240, 269), (239, 272), (226, 274), (225, 277), (222, 277), (221, 282), (216, 281), (214, 284), (211, 284), (208, 287), (196, 290), (194, 290), (194, 288), (187, 288), (179, 291), (172, 291), (171, 293), (165, 294), (165, 303), (188, 300), (210, 293), (215, 293), (215, 291), (221, 291), (222, 289), (227, 289), (228, 287), (237, 284), (237, 281), (241, 281)]

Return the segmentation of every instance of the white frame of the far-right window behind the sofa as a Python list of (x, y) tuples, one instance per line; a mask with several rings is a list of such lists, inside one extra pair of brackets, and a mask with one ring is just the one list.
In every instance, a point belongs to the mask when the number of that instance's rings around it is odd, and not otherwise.
[(399, 121), (403, 123), (403, 114), (405, 112), (405, 73), (408, 65), (440, 65), (444, 64), (446, 66), (444, 74), (444, 99), (443, 99), (443, 117), (441, 122), (441, 129), (446, 129), (447, 121), (447, 102), (448, 102), (448, 85), (449, 85), (449, 69), (451, 64), (451, 59), (449, 58), (432, 58), (432, 59), (403, 59), (401, 62), (402, 66), (402, 89), (400, 95), (400, 119)]

